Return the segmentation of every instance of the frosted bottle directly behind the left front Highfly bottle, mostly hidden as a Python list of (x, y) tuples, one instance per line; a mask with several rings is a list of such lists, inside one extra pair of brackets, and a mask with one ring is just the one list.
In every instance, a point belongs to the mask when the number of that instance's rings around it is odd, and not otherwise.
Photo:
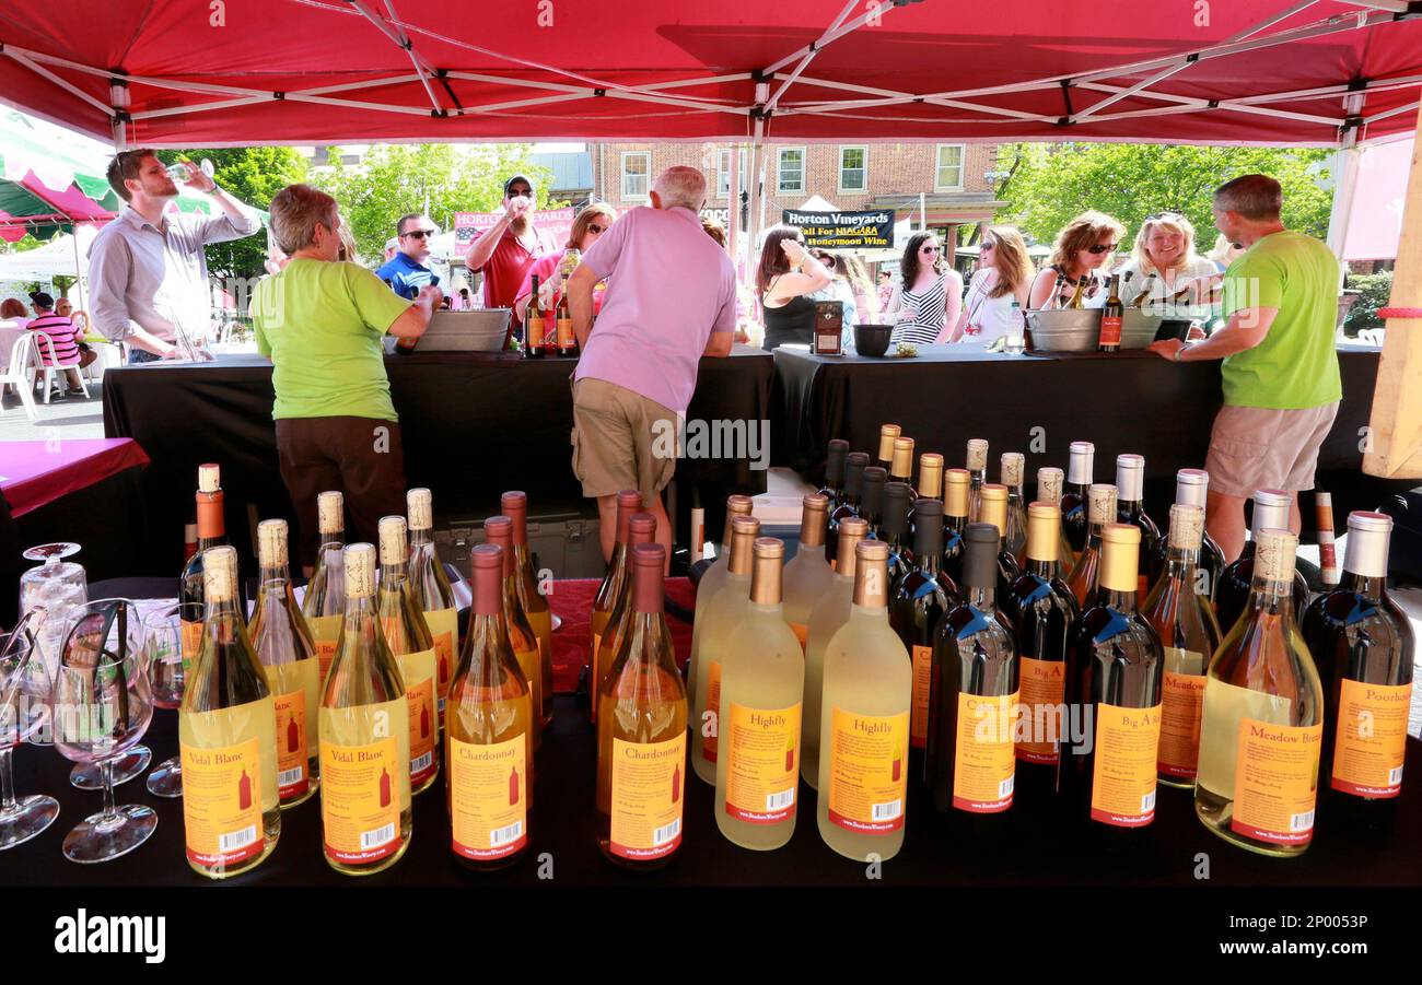
[(721, 715), (721, 662), (735, 627), (745, 618), (751, 600), (751, 544), (761, 534), (761, 522), (754, 516), (731, 519), (731, 566), (725, 586), (711, 600), (701, 635), (697, 661), (695, 702), (691, 725), (691, 768), (707, 783), (715, 783), (717, 735)]

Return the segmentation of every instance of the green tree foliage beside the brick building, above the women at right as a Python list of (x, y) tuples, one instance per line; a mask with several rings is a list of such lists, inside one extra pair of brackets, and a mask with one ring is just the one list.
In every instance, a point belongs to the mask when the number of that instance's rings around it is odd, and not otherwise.
[[(1196, 249), (1214, 244), (1210, 213), (1216, 188), (1251, 172), (1284, 186), (1284, 225), (1311, 236), (1328, 232), (1331, 151), (1160, 144), (1011, 144), (998, 149), (1008, 176), (997, 195), (1000, 222), (1049, 244), (1072, 216), (1096, 209), (1126, 226), (1129, 252), (1146, 216), (1180, 212), (1196, 229)], [(1320, 182), (1327, 188), (1320, 188)]]

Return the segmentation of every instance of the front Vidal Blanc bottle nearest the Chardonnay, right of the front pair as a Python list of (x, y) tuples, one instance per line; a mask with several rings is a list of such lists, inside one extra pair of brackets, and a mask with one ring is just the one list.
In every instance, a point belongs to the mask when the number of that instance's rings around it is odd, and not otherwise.
[(410, 704), (375, 608), (375, 547), (343, 551), (346, 614), (319, 715), (321, 844), (347, 876), (394, 866), (410, 847)]

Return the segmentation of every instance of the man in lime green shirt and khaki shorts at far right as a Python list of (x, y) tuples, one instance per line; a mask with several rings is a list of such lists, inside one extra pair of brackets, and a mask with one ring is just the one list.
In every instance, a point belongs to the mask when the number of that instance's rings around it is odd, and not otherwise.
[(1244, 550), (1244, 500), (1256, 489), (1293, 497), (1314, 488), (1318, 448), (1342, 399), (1334, 324), (1338, 260), (1324, 243), (1284, 229), (1283, 193), (1268, 175), (1244, 175), (1214, 190), (1214, 225), (1246, 247), (1224, 271), (1229, 323), (1202, 343), (1152, 343), (1176, 362), (1224, 360), (1224, 407), (1214, 418), (1206, 527), (1229, 560)]

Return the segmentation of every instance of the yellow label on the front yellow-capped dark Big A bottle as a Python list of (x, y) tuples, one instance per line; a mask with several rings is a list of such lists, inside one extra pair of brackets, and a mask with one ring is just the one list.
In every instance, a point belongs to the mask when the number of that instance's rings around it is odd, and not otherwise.
[(1113, 827), (1145, 827), (1155, 820), (1160, 705), (1096, 705), (1091, 819)]

